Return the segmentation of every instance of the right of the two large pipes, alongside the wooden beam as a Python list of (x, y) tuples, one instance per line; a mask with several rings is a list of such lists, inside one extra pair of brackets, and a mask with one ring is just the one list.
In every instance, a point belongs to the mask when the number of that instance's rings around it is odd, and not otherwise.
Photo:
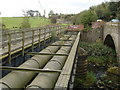
[[(72, 36), (69, 40), (75, 40), (75, 37)], [(73, 41), (67, 41), (65, 45), (72, 45)], [(71, 47), (63, 46), (61, 47), (57, 54), (69, 54)], [(61, 70), (67, 56), (54, 56), (43, 69), (54, 69)], [(39, 88), (39, 89), (51, 89), (54, 87), (59, 73), (39, 73), (36, 78), (32, 81), (30, 85), (27, 86), (27, 90), (31, 90), (31, 88)]]

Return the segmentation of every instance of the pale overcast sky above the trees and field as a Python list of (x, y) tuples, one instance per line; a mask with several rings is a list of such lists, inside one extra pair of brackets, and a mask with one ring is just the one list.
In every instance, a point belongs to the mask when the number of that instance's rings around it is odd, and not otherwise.
[(90, 6), (98, 5), (109, 0), (0, 0), (0, 17), (23, 16), (23, 10), (38, 10), (46, 15), (53, 10), (54, 13), (76, 14)]

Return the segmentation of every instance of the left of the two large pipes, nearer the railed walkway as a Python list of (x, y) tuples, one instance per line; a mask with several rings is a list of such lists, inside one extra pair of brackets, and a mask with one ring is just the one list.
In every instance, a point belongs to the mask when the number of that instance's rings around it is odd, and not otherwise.
[[(55, 42), (54, 44), (59, 45), (61, 42)], [(41, 51), (41, 53), (55, 53), (58, 51), (60, 46), (49, 46)], [(48, 60), (53, 55), (35, 55), (22, 65), (20, 68), (42, 68)], [(24, 88), (35, 76), (36, 74), (33, 72), (20, 72), (20, 71), (12, 71), (2, 79), (0, 79), (0, 86), (3, 88)]]

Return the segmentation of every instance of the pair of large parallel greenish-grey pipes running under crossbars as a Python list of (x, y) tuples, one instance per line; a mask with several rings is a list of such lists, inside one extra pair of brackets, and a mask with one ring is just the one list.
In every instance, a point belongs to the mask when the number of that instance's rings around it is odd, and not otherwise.
[[(70, 35), (67, 36), (69, 38)], [(72, 45), (76, 35), (72, 35), (69, 41), (64, 42), (64, 45)], [(57, 41), (53, 45), (60, 45), (63, 41)], [(69, 46), (48, 46), (43, 49), (41, 53), (56, 53), (69, 54), (71, 47)], [(35, 69), (54, 69), (61, 70), (67, 56), (53, 56), (53, 55), (35, 55), (23, 64), (20, 68), (35, 68)], [(59, 77), (59, 73), (40, 72), (37, 76), (35, 72), (11, 71), (0, 80), (2, 88), (54, 88), (54, 85)], [(31, 83), (30, 83), (31, 82)], [(29, 84), (29, 85), (28, 85)]]

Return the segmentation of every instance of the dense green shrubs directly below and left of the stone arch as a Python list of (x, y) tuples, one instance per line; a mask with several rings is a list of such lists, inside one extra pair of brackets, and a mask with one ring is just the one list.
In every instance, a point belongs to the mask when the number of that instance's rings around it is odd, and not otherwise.
[[(88, 54), (88, 61), (97, 66), (114, 66), (117, 62), (115, 50), (100, 44), (100, 43), (84, 43), (81, 42), (80, 46), (84, 48)], [(112, 64), (111, 64), (112, 63)]]

